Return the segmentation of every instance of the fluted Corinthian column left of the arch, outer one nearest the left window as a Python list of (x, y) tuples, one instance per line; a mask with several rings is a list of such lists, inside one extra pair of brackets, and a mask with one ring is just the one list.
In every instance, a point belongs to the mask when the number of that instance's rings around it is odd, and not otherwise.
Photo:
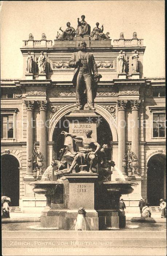
[(26, 177), (33, 178), (32, 151), (33, 151), (33, 109), (34, 101), (24, 101), (27, 109), (27, 172)]

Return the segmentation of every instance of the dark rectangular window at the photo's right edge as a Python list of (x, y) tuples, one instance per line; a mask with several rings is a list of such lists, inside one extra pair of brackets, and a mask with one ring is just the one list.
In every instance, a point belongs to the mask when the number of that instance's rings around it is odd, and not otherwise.
[(153, 137), (165, 137), (165, 113), (153, 113)]

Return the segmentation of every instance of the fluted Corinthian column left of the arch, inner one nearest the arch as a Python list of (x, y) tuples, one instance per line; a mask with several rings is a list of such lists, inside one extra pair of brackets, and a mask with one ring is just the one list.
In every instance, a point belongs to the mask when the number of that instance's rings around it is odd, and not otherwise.
[(43, 155), (44, 163), (43, 170), (46, 169), (47, 163), (47, 134), (46, 134), (46, 110), (47, 110), (47, 101), (37, 101), (40, 111), (40, 139), (39, 139), (39, 151)]

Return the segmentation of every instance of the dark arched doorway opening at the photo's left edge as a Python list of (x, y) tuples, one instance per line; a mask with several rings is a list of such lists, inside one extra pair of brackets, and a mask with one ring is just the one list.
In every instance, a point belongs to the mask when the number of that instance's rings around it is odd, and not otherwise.
[(19, 162), (10, 154), (1, 155), (1, 195), (11, 198), (10, 206), (19, 206)]

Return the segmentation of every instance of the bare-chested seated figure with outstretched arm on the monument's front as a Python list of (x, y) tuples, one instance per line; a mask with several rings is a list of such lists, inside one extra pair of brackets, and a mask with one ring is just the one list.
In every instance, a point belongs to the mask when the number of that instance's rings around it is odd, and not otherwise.
[[(92, 130), (87, 131), (86, 136), (76, 136), (75, 134), (66, 133), (64, 131), (61, 133), (64, 133), (65, 137), (71, 136), (74, 139), (81, 140), (83, 143), (83, 147), (79, 148), (79, 151), (73, 154), (73, 161), (67, 172), (72, 172), (76, 165), (87, 165), (90, 173), (92, 173), (92, 170), (96, 172), (95, 165), (98, 162), (97, 153), (100, 149), (100, 145), (98, 142), (95, 141), (94, 138), (91, 137)], [(93, 147), (96, 147), (95, 151), (93, 151)], [(65, 155), (64, 158), (66, 159)]]

